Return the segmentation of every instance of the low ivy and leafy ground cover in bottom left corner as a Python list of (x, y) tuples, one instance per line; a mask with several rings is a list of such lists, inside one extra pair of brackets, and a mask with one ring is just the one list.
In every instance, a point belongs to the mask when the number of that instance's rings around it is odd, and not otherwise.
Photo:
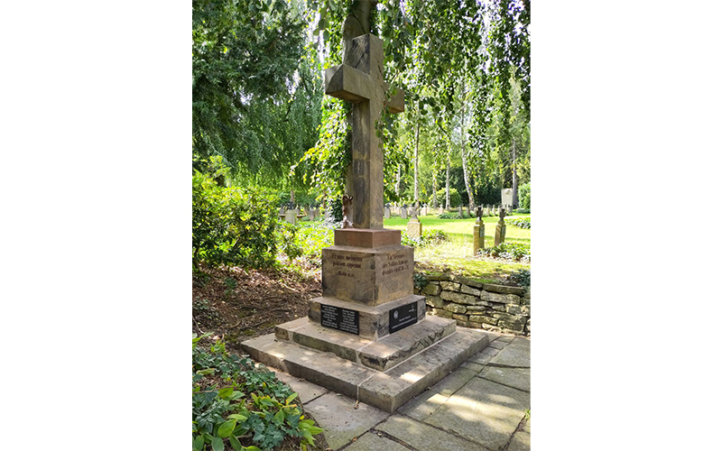
[[(313, 436), (322, 430), (292, 403), (298, 393), (250, 359), (228, 354), (221, 340), (208, 350), (201, 348), (199, 340), (206, 336), (193, 335), (193, 450), (222, 451), (230, 446), (236, 451), (270, 451), (285, 437), (300, 437), (303, 449), (313, 446)], [(244, 436), (249, 432), (254, 445), (243, 446), (241, 440), (247, 442)]]

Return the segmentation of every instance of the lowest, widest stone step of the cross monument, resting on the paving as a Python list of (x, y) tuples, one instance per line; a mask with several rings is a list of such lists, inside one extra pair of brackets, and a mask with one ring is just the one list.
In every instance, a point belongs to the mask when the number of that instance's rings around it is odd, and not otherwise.
[(455, 333), (384, 372), (335, 354), (278, 340), (273, 334), (252, 338), (241, 345), (256, 362), (393, 413), (488, 344), (485, 332), (459, 327)]

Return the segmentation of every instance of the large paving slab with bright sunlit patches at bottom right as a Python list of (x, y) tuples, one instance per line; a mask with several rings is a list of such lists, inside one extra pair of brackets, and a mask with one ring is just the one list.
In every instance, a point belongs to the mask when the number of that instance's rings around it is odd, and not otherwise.
[(496, 450), (509, 442), (530, 405), (528, 392), (475, 377), (424, 422)]

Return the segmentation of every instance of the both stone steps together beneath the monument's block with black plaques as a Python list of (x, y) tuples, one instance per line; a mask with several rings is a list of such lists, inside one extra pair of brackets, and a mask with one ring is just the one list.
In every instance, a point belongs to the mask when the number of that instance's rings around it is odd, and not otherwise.
[[(489, 344), (488, 336), (481, 331), (459, 328), (449, 334), (450, 327), (445, 326), (444, 321), (448, 320), (429, 317), (371, 341), (318, 327), (301, 318), (281, 325), (276, 334), (259, 336), (241, 345), (256, 362), (393, 413)], [(414, 338), (412, 331), (426, 337)], [(284, 334), (294, 341), (277, 338)], [(429, 342), (434, 339), (438, 341)], [(295, 340), (318, 345), (322, 350), (300, 345)], [(339, 357), (337, 352), (344, 357)], [(411, 356), (403, 360), (404, 355), (409, 354)], [(352, 361), (351, 357), (356, 360)]]

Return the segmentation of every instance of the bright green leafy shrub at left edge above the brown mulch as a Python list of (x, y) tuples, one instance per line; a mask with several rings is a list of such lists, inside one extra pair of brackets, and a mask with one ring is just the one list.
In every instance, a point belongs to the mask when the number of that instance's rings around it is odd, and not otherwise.
[[(218, 161), (213, 157), (212, 161)], [(193, 175), (193, 267), (199, 262), (263, 268), (273, 265), (278, 224), (273, 197), (261, 189), (218, 186), (220, 169)]]

